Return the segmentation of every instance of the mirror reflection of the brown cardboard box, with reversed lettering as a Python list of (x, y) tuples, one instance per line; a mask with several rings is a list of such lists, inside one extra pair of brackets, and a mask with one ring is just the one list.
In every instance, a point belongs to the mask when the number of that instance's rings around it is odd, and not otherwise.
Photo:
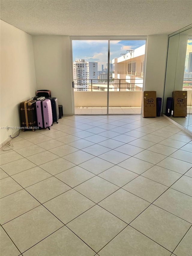
[(173, 117), (187, 116), (187, 91), (173, 92)]

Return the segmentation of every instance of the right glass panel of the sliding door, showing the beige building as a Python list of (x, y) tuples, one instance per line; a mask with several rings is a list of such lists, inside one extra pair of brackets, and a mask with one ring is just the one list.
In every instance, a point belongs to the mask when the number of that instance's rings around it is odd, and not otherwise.
[(109, 114), (140, 114), (146, 40), (110, 40)]

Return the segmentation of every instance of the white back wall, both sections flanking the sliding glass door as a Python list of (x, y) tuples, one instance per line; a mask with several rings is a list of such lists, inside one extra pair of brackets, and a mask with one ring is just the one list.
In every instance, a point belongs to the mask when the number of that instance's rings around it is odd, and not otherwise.
[[(168, 35), (148, 36), (145, 90), (163, 97)], [(72, 115), (69, 36), (33, 36), (35, 72), (38, 89), (51, 90), (63, 105), (65, 115)], [(72, 50), (72, 49), (71, 49)]]

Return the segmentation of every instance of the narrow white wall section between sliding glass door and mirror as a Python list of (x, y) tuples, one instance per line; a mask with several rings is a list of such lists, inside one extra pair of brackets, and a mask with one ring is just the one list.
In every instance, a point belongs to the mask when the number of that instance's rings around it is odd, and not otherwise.
[(163, 98), (168, 35), (149, 35), (146, 55), (145, 91)]

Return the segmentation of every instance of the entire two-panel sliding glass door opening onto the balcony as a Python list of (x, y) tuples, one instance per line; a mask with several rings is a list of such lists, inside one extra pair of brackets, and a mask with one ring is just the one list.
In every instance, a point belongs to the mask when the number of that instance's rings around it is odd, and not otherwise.
[(146, 40), (71, 41), (74, 114), (140, 114)]

